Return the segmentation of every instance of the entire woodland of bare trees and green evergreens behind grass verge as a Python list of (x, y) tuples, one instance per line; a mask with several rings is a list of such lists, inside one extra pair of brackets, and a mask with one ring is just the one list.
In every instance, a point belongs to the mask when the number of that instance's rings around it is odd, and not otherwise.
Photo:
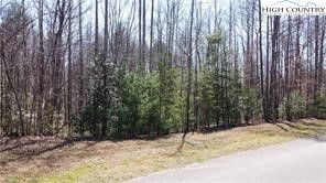
[(1, 0), (0, 136), (326, 118), (325, 30), (259, 0)]

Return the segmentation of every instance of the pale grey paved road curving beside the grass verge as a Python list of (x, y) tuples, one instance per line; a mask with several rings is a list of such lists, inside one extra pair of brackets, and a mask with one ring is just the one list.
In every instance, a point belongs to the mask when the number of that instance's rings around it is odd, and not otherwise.
[[(135, 168), (137, 169), (137, 168)], [(130, 183), (326, 183), (326, 137), (153, 173)]]

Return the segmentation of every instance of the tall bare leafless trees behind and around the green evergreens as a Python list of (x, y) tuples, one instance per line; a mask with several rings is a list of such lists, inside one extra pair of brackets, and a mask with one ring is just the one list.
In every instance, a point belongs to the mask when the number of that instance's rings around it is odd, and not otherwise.
[[(259, 0), (35, 0), (0, 7), (0, 133), (70, 132), (104, 56), (115, 67), (177, 68), (185, 131), (200, 126), (199, 75), (210, 35), (222, 34), (226, 77), (257, 88), (261, 118), (276, 121), (293, 90), (314, 104), (325, 90), (325, 17), (267, 17)], [(101, 11), (104, 10), (104, 11)], [(225, 65), (222, 60), (226, 60)], [(222, 83), (228, 86), (228, 83)], [(289, 105), (289, 103), (287, 103)], [(285, 106), (287, 111), (287, 106)], [(191, 119), (194, 116), (194, 119)], [(291, 120), (290, 115), (287, 115)], [(193, 125), (192, 125), (193, 123)]]

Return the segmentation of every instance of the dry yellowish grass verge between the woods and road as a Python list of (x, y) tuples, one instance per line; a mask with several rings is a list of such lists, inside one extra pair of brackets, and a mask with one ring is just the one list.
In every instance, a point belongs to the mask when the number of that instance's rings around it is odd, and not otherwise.
[(221, 155), (326, 133), (326, 121), (262, 123), (123, 141), (0, 138), (0, 182), (123, 182)]

